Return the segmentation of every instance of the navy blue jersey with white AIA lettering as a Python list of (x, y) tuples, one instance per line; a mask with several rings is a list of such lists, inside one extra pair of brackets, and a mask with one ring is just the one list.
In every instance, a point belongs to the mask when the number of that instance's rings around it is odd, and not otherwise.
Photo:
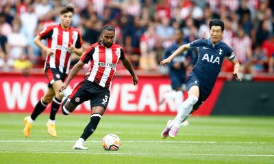
[(199, 51), (199, 56), (195, 67), (190, 76), (195, 76), (199, 79), (200, 85), (211, 90), (221, 71), (221, 65), (225, 57), (229, 60), (235, 59), (232, 48), (227, 46), (224, 42), (213, 45), (210, 39), (199, 39), (190, 42), (190, 47), (195, 47)]

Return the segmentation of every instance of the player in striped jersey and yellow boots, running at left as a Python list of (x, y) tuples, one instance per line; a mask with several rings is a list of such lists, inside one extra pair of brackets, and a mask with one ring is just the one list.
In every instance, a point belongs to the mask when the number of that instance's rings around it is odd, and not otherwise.
[[(30, 129), (34, 120), (44, 111), (51, 103), (51, 113), (47, 122), (47, 131), (52, 137), (56, 137), (55, 115), (61, 105), (62, 95), (59, 89), (69, 73), (71, 64), (71, 54), (81, 56), (82, 36), (77, 29), (71, 27), (73, 20), (74, 8), (66, 6), (60, 11), (60, 25), (50, 25), (41, 31), (34, 43), (41, 51), (45, 51), (47, 58), (45, 61), (45, 76), (49, 80), (47, 92), (36, 104), (32, 115), (25, 117), (24, 135), (29, 137)], [(42, 44), (41, 40), (47, 40), (47, 46)]]

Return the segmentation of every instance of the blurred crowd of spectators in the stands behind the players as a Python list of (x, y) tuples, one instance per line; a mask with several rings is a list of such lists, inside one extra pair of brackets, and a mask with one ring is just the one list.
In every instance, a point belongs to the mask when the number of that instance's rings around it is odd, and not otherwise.
[[(184, 32), (184, 42), (209, 38), (208, 23), (225, 23), (223, 41), (232, 46), (242, 72), (273, 73), (274, 1), (271, 0), (1, 0), (0, 69), (42, 68), (45, 53), (34, 37), (58, 24), (60, 8), (73, 5), (72, 26), (79, 29), (84, 50), (99, 40), (105, 24), (116, 28), (115, 42), (139, 70), (159, 70), (162, 53)], [(73, 57), (77, 62), (79, 58)], [(232, 71), (224, 61), (223, 71)]]

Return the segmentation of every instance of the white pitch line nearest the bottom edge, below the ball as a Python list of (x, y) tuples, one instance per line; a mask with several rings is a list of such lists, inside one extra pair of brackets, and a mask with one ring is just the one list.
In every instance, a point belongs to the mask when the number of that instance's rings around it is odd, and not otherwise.
[[(80, 152), (81, 151), (81, 152)], [(274, 156), (274, 154), (190, 154), (190, 153), (129, 153), (129, 152), (82, 152), (84, 150), (75, 150), (75, 152), (31, 152), (31, 151), (0, 151), (0, 153), (36, 153), (36, 154), (101, 154), (101, 155), (176, 155), (176, 156)]]

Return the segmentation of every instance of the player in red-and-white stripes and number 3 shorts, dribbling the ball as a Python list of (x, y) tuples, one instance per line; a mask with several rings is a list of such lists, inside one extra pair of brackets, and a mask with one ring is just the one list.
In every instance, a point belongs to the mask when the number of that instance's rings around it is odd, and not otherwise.
[(84, 128), (84, 132), (73, 146), (73, 149), (88, 149), (83, 146), (83, 143), (94, 133), (108, 106), (110, 85), (112, 84), (119, 59), (121, 59), (123, 66), (132, 75), (132, 83), (134, 85), (138, 83), (138, 77), (129, 59), (127, 59), (123, 47), (113, 43), (114, 37), (114, 27), (105, 25), (101, 31), (101, 40), (88, 47), (82, 58), (73, 66), (66, 82), (60, 87), (60, 92), (65, 90), (84, 64), (88, 64), (88, 61), (90, 61), (90, 69), (86, 73), (84, 81), (74, 88), (70, 96), (66, 97), (61, 107), (62, 113), (69, 115), (82, 102), (90, 100), (90, 109), (92, 111), (90, 122)]

